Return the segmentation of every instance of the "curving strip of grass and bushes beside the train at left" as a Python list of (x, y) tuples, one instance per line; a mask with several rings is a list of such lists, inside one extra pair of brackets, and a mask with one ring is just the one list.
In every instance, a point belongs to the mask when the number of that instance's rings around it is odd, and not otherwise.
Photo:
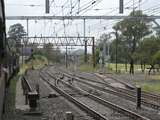
[[(7, 91), (7, 97), (5, 101), (5, 111), (3, 119), (7, 120), (8, 117), (13, 116), (15, 112), (15, 103), (16, 103), (16, 86), (17, 81), (20, 79), (20, 76), (25, 73), (29, 68), (39, 69), (48, 63), (46, 57), (41, 55), (33, 55), (30, 59), (26, 61), (25, 64), (21, 65), (20, 72), (11, 79), (10, 86)], [(9, 118), (10, 119), (10, 118)]]

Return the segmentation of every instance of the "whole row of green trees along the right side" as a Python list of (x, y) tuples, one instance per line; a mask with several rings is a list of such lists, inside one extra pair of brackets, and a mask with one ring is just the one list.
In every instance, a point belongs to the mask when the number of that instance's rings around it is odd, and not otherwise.
[[(142, 11), (134, 11), (130, 16), (147, 15)], [(154, 30), (152, 25), (153, 22), (149, 19), (123, 19), (113, 27), (113, 41), (109, 42), (108, 38), (104, 37), (107, 34), (100, 38), (97, 54), (103, 50), (104, 41), (107, 39), (106, 53), (110, 54), (110, 62), (115, 63), (117, 56), (118, 63), (130, 64), (131, 74), (134, 74), (134, 64), (141, 64), (142, 72), (146, 65), (150, 65), (150, 73), (152, 69), (160, 66), (160, 36), (159, 31)], [(99, 59), (98, 57), (97, 62)]]

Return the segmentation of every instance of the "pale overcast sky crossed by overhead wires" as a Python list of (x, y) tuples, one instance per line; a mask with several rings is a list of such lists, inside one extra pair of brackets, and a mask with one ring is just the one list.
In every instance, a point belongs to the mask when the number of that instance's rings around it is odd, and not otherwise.
[[(5, 0), (6, 16), (44, 16), (44, 15), (78, 15), (77, 12), (84, 6), (90, 9), (82, 9), (79, 15), (120, 15), (119, 0), (50, 0), (50, 14), (45, 14), (45, 0)], [(93, 1), (96, 3), (91, 6)], [(160, 0), (124, 0), (124, 14), (128, 15), (133, 10), (133, 2), (136, 9), (145, 10), (149, 15), (160, 14)], [(34, 6), (33, 6), (34, 5)], [(63, 9), (62, 9), (63, 6)], [(71, 10), (72, 6), (72, 10)], [(99, 38), (103, 33), (112, 31), (112, 26), (118, 20), (87, 20), (86, 36)], [(10, 25), (21, 23), (26, 29), (26, 21), (7, 21), (7, 30)], [(29, 21), (29, 36), (64, 36), (64, 23), (66, 36), (83, 36), (82, 20), (33, 20)]]

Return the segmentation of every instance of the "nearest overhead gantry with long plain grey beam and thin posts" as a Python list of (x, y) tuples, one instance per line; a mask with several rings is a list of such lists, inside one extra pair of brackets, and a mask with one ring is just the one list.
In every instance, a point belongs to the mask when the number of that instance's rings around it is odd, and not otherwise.
[[(6, 20), (26, 20), (27, 21), (27, 35), (29, 33), (29, 20), (83, 20), (84, 21), (84, 41), (85, 41), (85, 57), (87, 62), (87, 40), (85, 34), (86, 20), (115, 20), (115, 19), (147, 19), (155, 21), (160, 19), (160, 16), (6, 16)], [(28, 35), (29, 36), (29, 35)]]

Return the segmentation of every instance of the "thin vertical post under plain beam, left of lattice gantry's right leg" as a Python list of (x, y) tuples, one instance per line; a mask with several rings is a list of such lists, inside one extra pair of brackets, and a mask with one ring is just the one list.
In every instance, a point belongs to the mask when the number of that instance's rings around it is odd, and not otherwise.
[(84, 42), (85, 42), (85, 50), (84, 50), (84, 62), (87, 63), (87, 40), (86, 37), (86, 19), (84, 19)]

